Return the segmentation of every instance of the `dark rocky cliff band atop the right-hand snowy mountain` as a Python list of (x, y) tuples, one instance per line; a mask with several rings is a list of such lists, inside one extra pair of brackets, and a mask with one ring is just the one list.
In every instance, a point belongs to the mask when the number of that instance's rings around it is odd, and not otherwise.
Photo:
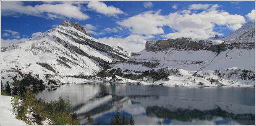
[(166, 49), (176, 50), (209, 50), (221, 52), (232, 48), (255, 48), (255, 29), (252, 29), (235, 40), (214, 43), (214, 40), (192, 40), (191, 38), (176, 38), (167, 40), (147, 41), (146, 50), (157, 52)]

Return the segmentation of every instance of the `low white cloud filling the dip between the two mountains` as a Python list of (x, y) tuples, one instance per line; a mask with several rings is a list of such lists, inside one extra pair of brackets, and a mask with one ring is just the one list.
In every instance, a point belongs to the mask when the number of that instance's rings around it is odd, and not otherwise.
[(146, 41), (149, 40), (150, 38), (154, 38), (154, 36), (129, 35), (125, 38), (104, 37), (104, 38), (98, 38), (98, 39), (112, 46), (120, 46), (124, 50), (127, 50), (129, 52), (139, 52), (145, 48)]

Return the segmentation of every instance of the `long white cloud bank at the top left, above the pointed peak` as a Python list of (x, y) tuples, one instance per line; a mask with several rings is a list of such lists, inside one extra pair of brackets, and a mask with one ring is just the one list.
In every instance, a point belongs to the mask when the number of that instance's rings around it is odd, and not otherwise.
[(21, 14), (32, 15), (44, 18), (74, 18), (78, 20), (86, 20), (88, 15), (80, 11), (81, 7), (72, 5), (69, 2), (41, 5), (24, 5), (22, 1), (3, 1), (1, 2), (1, 14), (3, 16), (20, 16)]

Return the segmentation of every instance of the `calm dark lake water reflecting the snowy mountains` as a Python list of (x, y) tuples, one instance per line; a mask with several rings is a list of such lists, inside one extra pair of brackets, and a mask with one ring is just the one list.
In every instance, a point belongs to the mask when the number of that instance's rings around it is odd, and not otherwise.
[(81, 124), (90, 113), (109, 125), (118, 107), (135, 125), (255, 125), (254, 87), (171, 87), (83, 83), (36, 91), (46, 101), (68, 96)]

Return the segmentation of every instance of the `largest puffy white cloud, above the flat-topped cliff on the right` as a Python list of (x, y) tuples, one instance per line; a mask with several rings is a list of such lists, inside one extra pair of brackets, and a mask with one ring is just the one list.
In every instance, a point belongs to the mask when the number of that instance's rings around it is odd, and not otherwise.
[(215, 25), (229, 28), (230, 30), (238, 30), (245, 19), (241, 15), (231, 15), (227, 12), (218, 10), (203, 11), (199, 14), (182, 14), (179, 12), (170, 13), (168, 15), (168, 26), (174, 33), (162, 35), (165, 38), (191, 37), (191, 38), (209, 38), (213, 35), (223, 35), (214, 32)]

